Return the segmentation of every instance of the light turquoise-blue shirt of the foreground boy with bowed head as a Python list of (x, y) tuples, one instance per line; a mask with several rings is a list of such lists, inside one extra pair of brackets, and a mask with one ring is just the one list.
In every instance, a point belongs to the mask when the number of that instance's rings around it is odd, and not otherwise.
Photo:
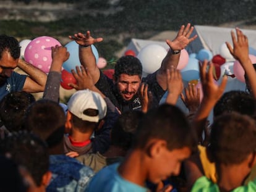
[(96, 173), (89, 183), (87, 192), (145, 192), (147, 188), (124, 180), (117, 172), (119, 163), (109, 165)]

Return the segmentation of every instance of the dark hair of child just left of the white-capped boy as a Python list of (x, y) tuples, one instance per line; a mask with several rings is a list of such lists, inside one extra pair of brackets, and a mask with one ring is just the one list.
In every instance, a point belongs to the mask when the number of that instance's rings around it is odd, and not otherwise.
[(51, 136), (48, 147), (54, 146), (62, 141), (66, 116), (61, 106), (57, 102), (40, 99), (28, 107), (23, 126), (32, 130), (47, 142)]

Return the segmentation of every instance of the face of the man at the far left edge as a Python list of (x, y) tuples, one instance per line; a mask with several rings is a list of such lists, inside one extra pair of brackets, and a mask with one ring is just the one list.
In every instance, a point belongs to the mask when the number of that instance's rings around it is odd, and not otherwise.
[(9, 51), (2, 52), (0, 59), (0, 85), (2, 85), (8, 77), (11, 77), (12, 70), (17, 67), (19, 59), (14, 59)]

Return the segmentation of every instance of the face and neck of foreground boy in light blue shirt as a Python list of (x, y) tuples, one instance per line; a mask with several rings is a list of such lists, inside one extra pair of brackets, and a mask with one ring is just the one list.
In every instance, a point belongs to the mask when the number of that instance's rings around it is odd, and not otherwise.
[(160, 153), (152, 164), (148, 175), (148, 180), (153, 183), (166, 180), (171, 175), (179, 175), (181, 163), (190, 156), (191, 150), (187, 147), (173, 149), (172, 151), (164, 148)]

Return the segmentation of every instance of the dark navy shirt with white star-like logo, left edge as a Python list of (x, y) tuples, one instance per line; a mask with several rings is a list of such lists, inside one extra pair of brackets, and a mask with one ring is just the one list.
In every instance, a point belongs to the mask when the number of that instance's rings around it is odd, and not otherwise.
[(8, 93), (22, 90), (26, 78), (27, 75), (12, 72), (11, 77), (7, 78), (6, 83), (0, 86), (0, 100)]

